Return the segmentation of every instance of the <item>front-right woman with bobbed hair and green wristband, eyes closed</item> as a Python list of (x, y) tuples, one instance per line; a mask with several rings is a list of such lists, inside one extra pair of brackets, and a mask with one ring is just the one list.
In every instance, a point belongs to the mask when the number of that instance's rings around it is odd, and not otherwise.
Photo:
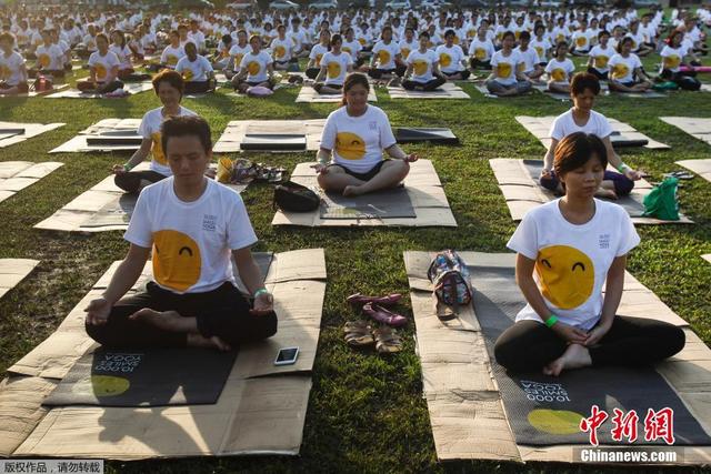
[(644, 366), (684, 346), (673, 324), (617, 315), (627, 254), (640, 238), (623, 208), (594, 199), (607, 164), (598, 137), (565, 137), (554, 162), (565, 195), (529, 211), (507, 244), (528, 302), (494, 345), (511, 372)]

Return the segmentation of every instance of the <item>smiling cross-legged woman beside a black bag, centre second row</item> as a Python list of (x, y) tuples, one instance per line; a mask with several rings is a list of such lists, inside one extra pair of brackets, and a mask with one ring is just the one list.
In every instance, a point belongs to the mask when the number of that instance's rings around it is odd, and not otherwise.
[[(319, 162), (319, 185), (343, 195), (395, 188), (410, 172), (415, 154), (405, 154), (395, 141), (388, 115), (368, 104), (368, 77), (352, 72), (343, 83), (343, 104), (326, 120)], [(383, 150), (392, 159), (383, 159)]]

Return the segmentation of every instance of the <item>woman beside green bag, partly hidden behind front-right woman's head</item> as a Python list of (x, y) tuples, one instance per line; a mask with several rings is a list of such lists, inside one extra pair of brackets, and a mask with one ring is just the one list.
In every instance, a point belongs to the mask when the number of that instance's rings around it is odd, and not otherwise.
[(553, 157), (558, 143), (565, 137), (575, 132), (585, 132), (593, 134), (602, 140), (608, 154), (609, 163), (619, 172), (605, 170), (600, 189), (597, 192), (598, 198), (618, 199), (627, 195), (634, 188), (634, 181), (642, 178), (642, 174), (625, 163), (614, 152), (610, 135), (612, 134), (612, 125), (608, 119), (592, 110), (594, 100), (600, 93), (600, 81), (589, 72), (579, 72), (573, 75), (570, 87), (570, 98), (573, 107), (553, 120), (549, 135), (551, 144), (543, 159), (543, 170), (541, 172), (540, 183), (543, 188), (553, 191), (557, 194), (564, 194), (565, 190), (561, 181), (553, 170)]

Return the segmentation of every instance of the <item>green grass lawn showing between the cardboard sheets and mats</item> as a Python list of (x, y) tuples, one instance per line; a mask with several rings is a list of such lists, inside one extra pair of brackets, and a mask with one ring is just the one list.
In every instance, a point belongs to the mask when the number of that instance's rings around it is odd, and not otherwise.
[[(575, 63), (581, 62), (577, 59)], [(647, 60), (648, 69), (655, 60)], [(343, 322), (359, 315), (344, 297), (353, 292), (408, 293), (402, 261), (404, 250), (454, 248), (505, 251), (515, 229), (489, 167), (488, 159), (542, 158), (543, 148), (514, 115), (558, 114), (570, 105), (542, 94), (510, 100), (483, 98), (464, 89), (471, 101), (391, 101), (378, 90), (378, 105), (393, 125), (444, 125), (461, 147), (417, 145), (407, 151), (430, 159), (442, 180), (459, 226), (457, 229), (307, 229), (272, 228), (271, 189), (252, 185), (242, 195), (260, 238), (256, 250), (274, 252), (324, 248), (329, 283), (323, 323), (301, 456), (298, 458), (199, 458), (162, 462), (109, 463), (120, 472), (599, 472), (599, 467), (555, 464), (520, 465), (492, 462), (437, 462), (421, 372), (413, 350), (411, 324), (405, 351), (390, 357), (356, 352), (341, 339)], [(326, 117), (329, 104), (297, 104), (298, 89), (279, 90), (268, 100), (234, 99), (220, 91), (184, 105), (210, 122), (217, 140), (228, 121), (237, 119), (309, 119)], [(624, 150), (622, 157), (645, 170), (652, 181), (677, 170), (680, 159), (708, 158), (711, 148), (658, 119), (662, 115), (711, 117), (711, 94), (672, 93), (669, 99), (601, 98), (597, 110), (628, 122), (665, 142), (671, 151)], [(32, 225), (103, 179), (122, 154), (59, 154), (47, 151), (79, 130), (109, 117), (139, 118), (158, 107), (150, 92), (127, 100), (3, 99), (0, 120), (67, 122), (41, 138), (0, 150), (0, 160), (50, 161), (66, 165), (38, 184), (0, 203), (3, 230), (0, 258), (41, 260), (37, 271), (0, 301), (0, 372), (44, 340), (128, 245), (119, 232), (90, 236), (41, 232)], [(311, 153), (256, 155), (267, 163), (292, 169), (312, 160)], [(629, 270), (657, 293), (693, 330), (711, 342), (711, 184), (700, 178), (680, 190), (683, 212), (695, 225), (638, 228), (641, 245)], [(512, 289), (512, 291), (517, 291)], [(411, 314), (409, 300), (401, 311)], [(69, 434), (70, 435), (70, 434)], [(613, 470), (609, 470), (613, 472)]]

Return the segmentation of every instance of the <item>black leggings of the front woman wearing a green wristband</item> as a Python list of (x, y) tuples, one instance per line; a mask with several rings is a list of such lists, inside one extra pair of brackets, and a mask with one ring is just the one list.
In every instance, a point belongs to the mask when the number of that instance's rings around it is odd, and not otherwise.
[[(662, 321), (615, 316), (610, 331), (590, 347), (592, 365), (649, 365), (684, 346), (684, 332)], [(541, 370), (563, 355), (568, 343), (538, 321), (519, 321), (494, 345), (497, 362), (511, 372)]]

